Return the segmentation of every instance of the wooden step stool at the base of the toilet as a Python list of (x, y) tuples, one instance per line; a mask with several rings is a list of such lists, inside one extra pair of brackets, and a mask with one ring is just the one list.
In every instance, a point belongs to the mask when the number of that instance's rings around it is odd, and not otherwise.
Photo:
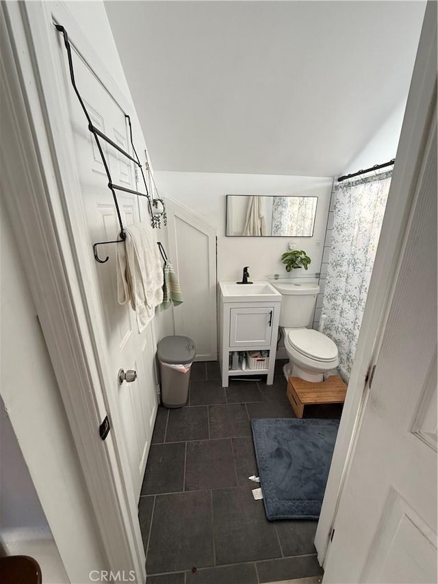
[(311, 383), (299, 377), (289, 377), (287, 398), (297, 418), (302, 418), (304, 407), (315, 403), (344, 403), (347, 386), (339, 375), (331, 375), (326, 381)]

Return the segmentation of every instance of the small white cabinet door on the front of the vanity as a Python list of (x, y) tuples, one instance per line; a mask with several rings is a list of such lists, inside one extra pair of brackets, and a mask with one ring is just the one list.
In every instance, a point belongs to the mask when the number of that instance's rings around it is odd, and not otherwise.
[(274, 307), (231, 308), (230, 346), (271, 344)]

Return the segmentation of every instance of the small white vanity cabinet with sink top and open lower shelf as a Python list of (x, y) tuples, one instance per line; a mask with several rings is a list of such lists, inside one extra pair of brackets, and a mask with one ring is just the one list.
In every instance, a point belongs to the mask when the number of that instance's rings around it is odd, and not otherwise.
[[(222, 386), (237, 375), (267, 375), (274, 381), (276, 343), (279, 331), (281, 294), (268, 282), (237, 285), (220, 282), (219, 360)], [(263, 369), (232, 368), (235, 351), (269, 351), (268, 366)], [(248, 361), (248, 359), (246, 359)]]

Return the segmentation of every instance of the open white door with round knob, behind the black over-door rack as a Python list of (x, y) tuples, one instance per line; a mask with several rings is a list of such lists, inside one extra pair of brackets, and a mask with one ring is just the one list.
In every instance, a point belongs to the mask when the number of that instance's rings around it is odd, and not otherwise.
[[(67, 72), (65, 51), (61, 59), (60, 66)], [(129, 129), (123, 108), (103, 86), (101, 80), (92, 73), (90, 64), (79, 58), (75, 51), (73, 65), (77, 86), (92, 123), (121, 148), (131, 153)], [(67, 74), (64, 75), (64, 82), (70, 112), (71, 139), (75, 144), (75, 164), (81, 186), (83, 221), (91, 250), (93, 242), (116, 240), (120, 227), (112, 194), (107, 188), (103, 162), (94, 138), (88, 131), (86, 117)], [(136, 183), (133, 163), (103, 140), (101, 144), (113, 183), (140, 190), (140, 184)], [(145, 199), (140, 200), (138, 196), (124, 192), (117, 194), (123, 225), (138, 223), (140, 220), (149, 222)], [(90, 294), (99, 296), (106, 341), (106, 346), (100, 347), (100, 350), (107, 351), (110, 357), (108, 360), (112, 366), (110, 374), (114, 385), (109, 390), (118, 394), (131, 478), (136, 496), (139, 496), (157, 410), (155, 343), (151, 325), (139, 334), (136, 315), (131, 306), (120, 306), (117, 302), (117, 245), (123, 244), (99, 246), (99, 257), (104, 259), (109, 256), (110, 259), (105, 264), (93, 262), (95, 271), (94, 281), (90, 282)], [(136, 381), (133, 383), (125, 381), (120, 385), (117, 375), (120, 368), (135, 369), (138, 373)]]

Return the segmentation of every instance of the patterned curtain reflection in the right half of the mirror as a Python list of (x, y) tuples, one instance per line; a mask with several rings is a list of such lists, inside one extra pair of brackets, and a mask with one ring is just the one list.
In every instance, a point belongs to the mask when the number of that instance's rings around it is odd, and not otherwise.
[(309, 237), (313, 233), (316, 197), (274, 196), (272, 205), (272, 235)]

